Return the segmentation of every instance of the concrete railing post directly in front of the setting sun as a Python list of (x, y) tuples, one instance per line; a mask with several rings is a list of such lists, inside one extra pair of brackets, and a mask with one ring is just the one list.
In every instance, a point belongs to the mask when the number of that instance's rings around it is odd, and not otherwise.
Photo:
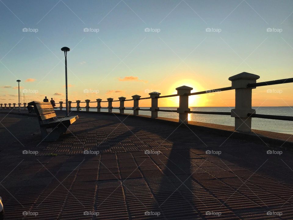
[(188, 108), (188, 97), (187, 95), (190, 93), (193, 88), (188, 86), (180, 86), (176, 88), (177, 94), (179, 95), (179, 108), (177, 108), (177, 113), (179, 113), (179, 122), (188, 124), (188, 113), (185, 113), (185, 111), (190, 111), (190, 108)]

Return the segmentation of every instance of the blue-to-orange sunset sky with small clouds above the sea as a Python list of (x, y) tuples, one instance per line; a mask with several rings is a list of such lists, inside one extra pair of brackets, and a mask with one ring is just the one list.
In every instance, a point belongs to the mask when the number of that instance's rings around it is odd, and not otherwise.
[[(103, 101), (231, 86), (241, 72), (258, 82), (292, 78), (293, 1), (0, 1), (0, 103), (52, 97)], [(254, 89), (253, 106), (293, 106), (292, 83)], [(22, 102), (23, 98), (22, 98)], [(192, 96), (189, 105), (234, 106), (234, 91)], [(116, 107), (119, 103), (114, 102)], [(92, 104), (95, 106), (96, 104)], [(125, 102), (132, 106), (133, 102)], [(141, 107), (150, 100), (141, 100)], [(102, 107), (106, 107), (103, 103)], [(159, 99), (178, 106), (178, 97)]]

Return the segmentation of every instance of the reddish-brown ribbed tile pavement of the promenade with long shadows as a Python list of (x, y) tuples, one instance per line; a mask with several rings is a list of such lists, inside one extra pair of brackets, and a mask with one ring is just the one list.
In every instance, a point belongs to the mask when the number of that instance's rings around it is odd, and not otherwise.
[(293, 219), (291, 152), (138, 117), (78, 115), (59, 141), (37, 133), (1, 146), (5, 219)]

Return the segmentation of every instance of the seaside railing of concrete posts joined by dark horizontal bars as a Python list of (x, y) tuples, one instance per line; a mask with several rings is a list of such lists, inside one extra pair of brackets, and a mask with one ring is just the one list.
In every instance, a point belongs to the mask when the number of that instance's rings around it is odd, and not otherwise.
[[(260, 115), (255, 113), (255, 109), (251, 108), (252, 100), (252, 89), (255, 89), (258, 86), (268, 86), (268, 85), (277, 85), (283, 83), (293, 82), (293, 78), (289, 79), (279, 79), (267, 82), (256, 82), (259, 79), (258, 75), (242, 72), (240, 74), (231, 76), (229, 80), (232, 82), (232, 86), (224, 87), (213, 90), (205, 90), (201, 92), (190, 93), (193, 88), (188, 86), (180, 86), (176, 88), (177, 94), (160, 96), (161, 93), (152, 92), (149, 93), (150, 97), (141, 98), (139, 95), (132, 96), (132, 99), (126, 99), (125, 97), (119, 97), (118, 100), (113, 100), (113, 98), (107, 98), (107, 101), (102, 101), (102, 99), (96, 99), (96, 101), (90, 101), (89, 99), (84, 102), (76, 100), (76, 102), (68, 101), (68, 108), (71, 111), (71, 104), (76, 103), (76, 110), (80, 111), (80, 103), (86, 103), (85, 109), (89, 112), (90, 108), (96, 108), (97, 112), (100, 112), (101, 109), (108, 109), (108, 112), (112, 112), (112, 109), (119, 109), (120, 114), (124, 114), (124, 110), (133, 110), (133, 115), (137, 116), (139, 111), (150, 111), (151, 118), (157, 118), (158, 112), (177, 112), (179, 114), (179, 122), (188, 124), (188, 114), (211, 114), (211, 115), (230, 115), (235, 118), (235, 130), (242, 132), (251, 131), (251, 118), (264, 118), (264, 119), (276, 119), (276, 120), (287, 120), (293, 121), (293, 116), (275, 116), (275, 115)], [(188, 98), (192, 95), (200, 94), (210, 94), (215, 92), (222, 92), (228, 90), (235, 90), (235, 108), (231, 109), (231, 112), (202, 112), (202, 111), (190, 111), (188, 108)], [(176, 97), (179, 96), (179, 108), (177, 110), (163, 110), (158, 107), (159, 98), (167, 97)], [(151, 99), (150, 109), (140, 109), (139, 100)], [(120, 106), (112, 107), (112, 102), (119, 101)], [(125, 108), (125, 101), (133, 101), (132, 108)], [(108, 107), (101, 107), (101, 102), (108, 102)], [(63, 109), (63, 102), (60, 101), (59, 109)], [(97, 103), (96, 107), (90, 107), (89, 103)], [(25, 106), (26, 103), (24, 103)], [(4, 104), (5, 108), (7, 104)], [(17, 104), (16, 104), (17, 105)], [(9, 104), (10, 107), (10, 104)], [(1, 104), (2, 108), (2, 104)], [(15, 108), (15, 103), (13, 103), (13, 108)]]

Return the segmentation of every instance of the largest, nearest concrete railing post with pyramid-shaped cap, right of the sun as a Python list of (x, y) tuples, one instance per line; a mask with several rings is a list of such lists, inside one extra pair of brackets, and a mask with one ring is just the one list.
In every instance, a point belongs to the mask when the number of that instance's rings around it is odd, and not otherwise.
[(231, 110), (231, 117), (235, 118), (236, 131), (251, 131), (251, 118), (248, 113), (255, 113), (251, 108), (251, 93), (255, 87), (247, 88), (247, 84), (256, 83), (259, 75), (242, 72), (229, 77), (232, 81), (232, 89), (235, 89), (235, 108)]

